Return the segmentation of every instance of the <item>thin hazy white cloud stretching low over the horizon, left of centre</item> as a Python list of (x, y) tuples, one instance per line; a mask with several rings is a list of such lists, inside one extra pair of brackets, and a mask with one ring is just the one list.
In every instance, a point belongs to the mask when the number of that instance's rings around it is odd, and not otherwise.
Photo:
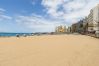
[(34, 32), (51, 32), (55, 30), (55, 26), (62, 24), (58, 20), (48, 20), (35, 14), (30, 16), (17, 16), (16, 22), (21, 26), (33, 29)]

